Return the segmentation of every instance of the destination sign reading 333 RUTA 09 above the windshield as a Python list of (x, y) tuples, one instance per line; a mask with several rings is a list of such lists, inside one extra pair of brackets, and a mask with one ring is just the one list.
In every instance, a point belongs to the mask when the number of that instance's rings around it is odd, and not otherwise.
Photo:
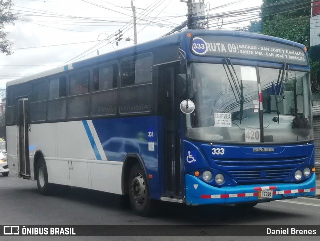
[(233, 36), (197, 36), (192, 40), (191, 50), (193, 54), (202, 56), (308, 65), (306, 54), (301, 48), (268, 40)]

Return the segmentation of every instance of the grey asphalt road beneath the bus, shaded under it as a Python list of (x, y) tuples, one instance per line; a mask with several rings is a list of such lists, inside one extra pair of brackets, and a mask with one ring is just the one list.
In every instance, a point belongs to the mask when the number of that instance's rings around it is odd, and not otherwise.
[[(38, 193), (36, 182), (0, 176), (0, 225), (319, 225), (320, 199), (260, 203), (249, 210), (229, 206), (188, 207), (162, 203), (157, 216), (136, 216), (118, 195), (71, 188), (54, 196)], [(161, 226), (158, 226), (161, 228)], [(254, 226), (252, 226), (254, 228)], [(279, 226), (280, 228), (281, 226)], [(149, 228), (149, 227), (148, 227)], [(319, 240), (319, 236), (66, 236), (4, 237), (0, 240)]]

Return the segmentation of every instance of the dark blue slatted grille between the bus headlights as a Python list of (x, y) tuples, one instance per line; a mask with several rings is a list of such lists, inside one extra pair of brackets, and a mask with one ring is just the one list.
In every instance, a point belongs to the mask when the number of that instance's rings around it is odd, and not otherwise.
[(219, 169), (226, 171), (239, 184), (284, 182), (303, 164), (306, 156), (298, 159), (214, 159)]

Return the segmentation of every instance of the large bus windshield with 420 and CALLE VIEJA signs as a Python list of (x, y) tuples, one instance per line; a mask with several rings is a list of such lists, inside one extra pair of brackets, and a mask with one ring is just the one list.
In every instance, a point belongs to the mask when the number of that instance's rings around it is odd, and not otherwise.
[(187, 115), (188, 137), (255, 143), (313, 139), (309, 73), (231, 61), (191, 63), (189, 69), (195, 111)]

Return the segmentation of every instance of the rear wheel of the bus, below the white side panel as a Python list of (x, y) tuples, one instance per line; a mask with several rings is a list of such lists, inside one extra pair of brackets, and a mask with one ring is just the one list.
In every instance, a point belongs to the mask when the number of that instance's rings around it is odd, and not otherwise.
[(48, 171), (47, 171), (43, 156), (39, 157), (39, 160), (36, 166), (36, 173), (37, 173), (36, 184), (38, 186), (39, 192), (42, 195), (51, 195), (52, 184), (48, 183)]

